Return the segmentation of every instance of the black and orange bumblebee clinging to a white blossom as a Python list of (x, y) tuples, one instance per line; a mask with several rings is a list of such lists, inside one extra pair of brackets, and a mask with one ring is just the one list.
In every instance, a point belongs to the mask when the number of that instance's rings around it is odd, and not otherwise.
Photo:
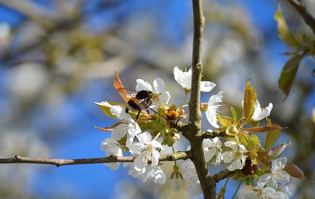
[(151, 108), (149, 106), (152, 104), (152, 98), (155, 95), (151, 91), (140, 90), (138, 92), (127, 88), (118, 88), (117, 92), (119, 92), (119, 94), (121, 95), (125, 95), (127, 98), (130, 98), (127, 102), (128, 105), (126, 107), (126, 113), (129, 113), (129, 109), (133, 111), (138, 111), (138, 114), (135, 117), (135, 121), (139, 119), (140, 113), (143, 110), (146, 110), (147, 113), (150, 114), (149, 109)]

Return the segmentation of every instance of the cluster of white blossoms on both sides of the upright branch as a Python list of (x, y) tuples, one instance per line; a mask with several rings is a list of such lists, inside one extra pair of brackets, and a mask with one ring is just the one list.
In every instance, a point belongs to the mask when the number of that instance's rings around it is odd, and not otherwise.
[[(155, 183), (165, 184), (166, 174), (162, 170), (163, 165), (159, 163), (160, 152), (164, 147), (173, 147), (173, 144), (179, 140), (179, 132), (172, 128), (170, 122), (178, 121), (181, 117), (186, 117), (183, 108), (187, 96), (191, 90), (191, 68), (189, 71), (182, 71), (178, 67), (173, 70), (175, 81), (182, 86), (186, 97), (180, 107), (169, 105), (170, 94), (165, 91), (165, 84), (160, 78), (156, 78), (153, 86), (141, 79), (138, 79), (135, 87), (136, 91), (147, 90), (153, 93), (154, 97), (148, 103), (148, 109), (154, 113), (141, 112), (139, 119), (134, 119), (133, 113), (126, 111), (125, 106), (107, 105), (106, 114), (116, 117), (120, 121), (111, 128), (101, 129), (103, 131), (112, 131), (111, 138), (106, 138), (101, 143), (101, 149), (105, 151), (106, 157), (111, 155), (123, 156), (129, 151), (134, 157), (133, 163), (124, 163), (124, 167), (130, 167), (128, 174), (133, 177), (141, 178), (143, 182), (152, 179)], [(201, 82), (201, 92), (210, 92), (216, 84), (208, 81)], [(289, 181), (290, 175), (284, 171), (286, 158), (278, 158), (272, 161), (272, 167), (269, 168), (267, 162), (261, 163), (257, 160), (259, 139), (249, 132), (262, 132), (261, 128), (244, 129), (246, 123), (240, 123), (231, 108), (233, 118), (223, 118), (218, 114), (221, 106), (223, 91), (212, 95), (208, 103), (201, 103), (200, 110), (205, 113), (208, 122), (218, 130), (224, 130), (226, 136), (203, 140), (203, 150), (205, 162), (207, 165), (222, 165), (228, 171), (233, 171), (236, 175), (245, 175), (245, 178), (257, 180), (253, 186), (254, 191), (242, 196), (248, 198), (287, 198), (291, 196), (291, 189), (285, 186)], [(259, 120), (267, 118), (273, 108), (270, 103), (268, 107), (261, 108), (258, 100), (251, 102), (253, 111), (250, 120), (251, 125), (258, 126)], [(244, 109), (247, 109), (249, 102), (243, 102)], [(143, 110), (145, 111), (145, 110)], [(246, 112), (246, 111), (244, 111)], [(268, 121), (268, 118), (267, 118)], [(218, 122), (221, 124), (219, 126)], [(269, 122), (269, 121), (268, 121)], [(271, 122), (268, 131), (277, 130), (279, 127), (273, 126)], [(207, 132), (211, 132), (208, 130)], [(224, 142), (222, 142), (224, 141)], [(275, 141), (272, 141), (275, 142)], [(285, 147), (284, 147), (285, 148)], [(267, 154), (267, 152), (263, 152)], [(279, 155), (280, 152), (277, 154)], [(271, 157), (272, 158), (272, 157)], [(105, 163), (104, 165), (117, 170), (120, 163)], [(183, 170), (183, 174), (180, 171)], [(175, 161), (173, 172), (170, 176), (170, 184), (174, 191), (178, 192), (183, 184), (183, 179), (188, 182), (188, 191), (190, 195), (199, 195), (202, 193), (200, 182), (195, 170), (194, 164), (189, 159), (177, 165)], [(235, 178), (236, 179), (236, 178)], [(253, 181), (252, 181), (253, 184)]]

